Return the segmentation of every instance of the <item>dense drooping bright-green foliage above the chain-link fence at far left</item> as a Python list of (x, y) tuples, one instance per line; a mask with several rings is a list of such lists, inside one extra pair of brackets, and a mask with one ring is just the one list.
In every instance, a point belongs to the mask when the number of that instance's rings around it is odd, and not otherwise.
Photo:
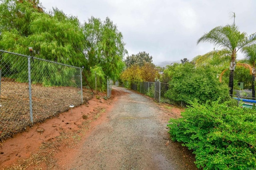
[(2, 0), (0, 4), (0, 48), (38, 58), (82, 66), (84, 35), (76, 17), (57, 8), (49, 13), (38, 0)]

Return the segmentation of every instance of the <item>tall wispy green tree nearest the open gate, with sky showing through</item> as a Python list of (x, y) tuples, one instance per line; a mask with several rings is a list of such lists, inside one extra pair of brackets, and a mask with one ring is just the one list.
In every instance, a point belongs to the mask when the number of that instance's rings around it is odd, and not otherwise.
[(123, 35), (109, 19), (101, 21), (91, 17), (84, 23), (86, 39), (86, 69), (98, 65), (106, 76), (116, 80), (124, 68), (123, 58), (127, 54)]

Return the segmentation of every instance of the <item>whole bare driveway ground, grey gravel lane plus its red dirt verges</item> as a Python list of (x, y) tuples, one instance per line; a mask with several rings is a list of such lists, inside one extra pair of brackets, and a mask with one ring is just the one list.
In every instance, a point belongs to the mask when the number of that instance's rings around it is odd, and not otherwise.
[(193, 170), (194, 156), (169, 141), (166, 124), (180, 109), (114, 87), (2, 143), (1, 169)]

